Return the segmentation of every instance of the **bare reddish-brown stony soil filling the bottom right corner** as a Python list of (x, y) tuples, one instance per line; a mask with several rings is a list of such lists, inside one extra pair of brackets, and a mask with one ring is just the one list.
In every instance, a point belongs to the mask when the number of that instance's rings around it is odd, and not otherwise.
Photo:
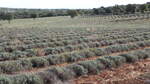
[(99, 75), (82, 76), (71, 84), (150, 84), (150, 59), (104, 70)]

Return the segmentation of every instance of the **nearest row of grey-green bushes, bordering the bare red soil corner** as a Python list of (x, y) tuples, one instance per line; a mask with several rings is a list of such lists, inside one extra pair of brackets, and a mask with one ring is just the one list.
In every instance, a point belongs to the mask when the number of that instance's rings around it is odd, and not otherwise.
[[(145, 50), (143, 51), (145, 53), (149, 52)], [(83, 61), (64, 67), (51, 67), (46, 71), (37, 73), (37, 75), (34, 74), (28, 76), (25, 74), (20, 74), (12, 77), (11, 80), (10, 78), (5, 78), (4, 80), (13, 81), (13, 84), (49, 84), (55, 83), (59, 80), (66, 81), (71, 78), (83, 76), (86, 74), (97, 74), (105, 68), (112, 68), (120, 66), (126, 62), (131, 63), (138, 61), (139, 59), (143, 59), (138, 58), (137, 55), (134, 55), (135, 53), (136, 51), (129, 54), (120, 54), (119, 56), (100, 57), (93, 61)]]

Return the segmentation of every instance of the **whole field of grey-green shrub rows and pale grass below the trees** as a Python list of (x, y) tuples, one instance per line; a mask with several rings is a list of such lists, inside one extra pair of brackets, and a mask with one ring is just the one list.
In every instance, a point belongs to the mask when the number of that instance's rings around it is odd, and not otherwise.
[(103, 16), (0, 21), (0, 84), (73, 84), (111, 69), (149, 65), (149, 22)]

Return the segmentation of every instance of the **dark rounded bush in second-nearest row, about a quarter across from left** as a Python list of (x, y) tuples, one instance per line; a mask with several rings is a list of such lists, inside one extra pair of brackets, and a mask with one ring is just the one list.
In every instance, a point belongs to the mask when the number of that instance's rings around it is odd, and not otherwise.
[(32, 67), (44, 67), (49, 65), (49, 62), (44, 58), (31, 58)]

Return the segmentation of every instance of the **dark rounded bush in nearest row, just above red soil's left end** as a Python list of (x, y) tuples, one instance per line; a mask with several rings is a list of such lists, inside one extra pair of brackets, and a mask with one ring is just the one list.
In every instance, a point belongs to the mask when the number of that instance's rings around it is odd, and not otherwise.
[(87, 74), (87, 69), (85, 69), (83, 66), (78, 64), (72, 64), (67, 68), (73, 71), (75, 73), (75, 76), (77, 77)]

